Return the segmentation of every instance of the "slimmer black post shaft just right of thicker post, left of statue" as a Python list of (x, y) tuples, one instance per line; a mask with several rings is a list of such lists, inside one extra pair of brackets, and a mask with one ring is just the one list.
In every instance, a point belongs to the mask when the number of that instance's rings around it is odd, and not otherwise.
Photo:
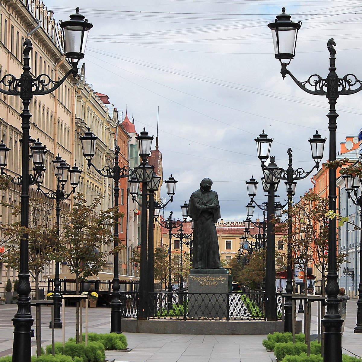
[(154, 270), (154, 240), (153, 240), (153, 227), (154, 227), (154, 212), (155, 212), (155, 193), (150, 191), (148, 201), (148, 249), (147, 249), (147, 295), (148, 295), (148, 312), (153, 316), (154, 303), (153, 292), (155, 291), (155, 270)]

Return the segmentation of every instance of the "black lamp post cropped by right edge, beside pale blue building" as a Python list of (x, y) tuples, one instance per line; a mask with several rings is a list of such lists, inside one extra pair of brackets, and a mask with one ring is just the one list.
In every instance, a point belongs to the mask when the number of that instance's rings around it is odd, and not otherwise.
[[(359, 176), (353, 174), (345, 174), (342, 176), (345, 182), (345, 189), (348, 194), (348, 198), (352, 200), (354, 205), (359, 206), (359, 217), (362, 225), (362, 195), (358, 195), (358, 190), (361, 186), (362, 179)], [(353, 191), (353, 195), (352, 195)], [(359, 233), (359, 285), (358, 285), (358, 301), (357, 301), (357, 323), (354, 327), (354, 333), (362, 333), (362, 232)], [(353, 272), (353, 269), (352, 269)], [(345, 268), (344, 274), (349, 274), (350, 269)], [(353, 274), (352, 274), (353, 278)]]

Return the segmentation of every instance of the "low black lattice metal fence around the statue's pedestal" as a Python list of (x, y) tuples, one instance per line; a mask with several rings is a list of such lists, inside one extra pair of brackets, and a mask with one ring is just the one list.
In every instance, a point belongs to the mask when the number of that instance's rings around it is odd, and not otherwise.
[[(178, 320), (265, 320), (264, 292), (229, 294), (154, 292), (148, 301), (149, 319)], [(138, 292), (122, 292), (123, 317), (136, 318)], [(278, 319), (283, 303), (277, 295)]]

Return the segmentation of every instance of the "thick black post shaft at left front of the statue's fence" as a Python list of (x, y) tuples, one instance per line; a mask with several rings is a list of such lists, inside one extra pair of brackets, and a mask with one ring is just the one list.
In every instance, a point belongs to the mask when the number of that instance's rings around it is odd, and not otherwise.
[[(145, 171), (143, 171), (142, 180), (145, 180), (145, 178)], [(139, 308), (137, 319), (147, 319), (147, 297), (147, 182), (142, 182)]]

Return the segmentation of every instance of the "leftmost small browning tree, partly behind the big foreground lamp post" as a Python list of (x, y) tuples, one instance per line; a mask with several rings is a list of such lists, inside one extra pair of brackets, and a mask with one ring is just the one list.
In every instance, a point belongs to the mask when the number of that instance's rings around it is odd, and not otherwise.
[[(12, 214), (20, 215), (20, 206), (8, 204)], [(2, 228), (3, 236), (7, 240), (8, 252), (3, 259), (12, 268), (19, 268), (20, 238), (28, 233), (29, 238), (29, 273), (35, 281), (35, 299), (39, 299), (39, 275), (55, 257), (55, 248), (58, 244), (56, 226), (52, 217), (52, 205), (48, 205), (41, 198), (29, 199), (29, 227), (20, 223), (13, 223)]]

